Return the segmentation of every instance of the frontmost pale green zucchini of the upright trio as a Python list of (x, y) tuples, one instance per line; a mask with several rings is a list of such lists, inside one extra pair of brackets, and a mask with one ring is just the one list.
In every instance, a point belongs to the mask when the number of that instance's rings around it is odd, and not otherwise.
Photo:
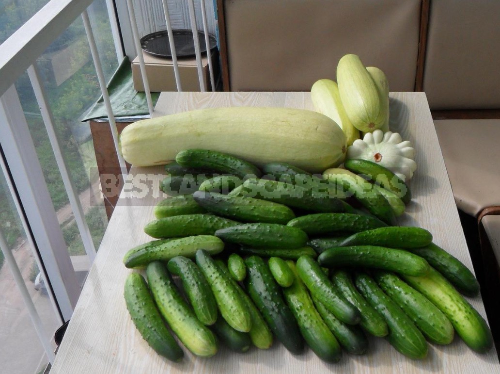
[(345, 113), (356, 129), (366, 133), (382, 127), (386, 112), (381, 94), (358, 56), (340, 59), (337, 83)]

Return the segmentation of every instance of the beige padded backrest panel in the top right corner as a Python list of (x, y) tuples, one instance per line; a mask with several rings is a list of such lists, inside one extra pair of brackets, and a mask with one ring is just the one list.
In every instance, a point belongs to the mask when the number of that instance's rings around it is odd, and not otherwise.
[(430, 109), (500, 108), (498, 41), (498, 0), (432, 0), (423, 80)]

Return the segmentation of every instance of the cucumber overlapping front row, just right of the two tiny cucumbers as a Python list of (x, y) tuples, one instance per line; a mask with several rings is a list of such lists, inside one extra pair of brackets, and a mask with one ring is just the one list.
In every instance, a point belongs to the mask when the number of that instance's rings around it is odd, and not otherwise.
[(309, 292), (335, 317), (347, 324), (359, 323), (361, 319), (359, 310), (338, 292), (315, 260), (309, 256), (301, 256), (297, 260), (296, 268), (298, 276)]

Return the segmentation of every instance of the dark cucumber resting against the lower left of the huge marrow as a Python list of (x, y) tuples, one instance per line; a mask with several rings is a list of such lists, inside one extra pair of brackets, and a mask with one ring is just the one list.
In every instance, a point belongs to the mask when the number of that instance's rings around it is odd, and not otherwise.
[(225, 153), (205, 149), (187, 149), (175, 156), (181, 166), (194, 169), (209, 169), (221, 174), (230, 174), (241, 179), (260, 177), (260, 170), (249, 162)]

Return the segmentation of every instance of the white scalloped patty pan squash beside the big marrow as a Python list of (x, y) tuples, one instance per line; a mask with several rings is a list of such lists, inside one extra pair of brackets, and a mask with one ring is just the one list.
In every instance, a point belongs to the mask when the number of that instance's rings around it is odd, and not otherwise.
[(375, 162), (386, 167), (404, 181), (416, 170), (415, 150), (408, 140), (403, 141), (398, 133), (375, 130), (366, 133), (347, 148), (347, 159), (357, 158)]

